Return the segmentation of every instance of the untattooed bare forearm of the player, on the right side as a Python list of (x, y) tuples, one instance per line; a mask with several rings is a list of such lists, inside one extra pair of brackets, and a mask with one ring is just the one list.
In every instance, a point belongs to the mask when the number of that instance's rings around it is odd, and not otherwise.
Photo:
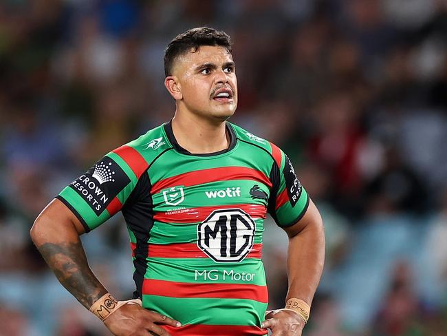
[(312, 304), (325, 262), (325, 235), (319, 220), (308, 224), (301, 232), (289, 238), (287, 299), (296, 297)]

